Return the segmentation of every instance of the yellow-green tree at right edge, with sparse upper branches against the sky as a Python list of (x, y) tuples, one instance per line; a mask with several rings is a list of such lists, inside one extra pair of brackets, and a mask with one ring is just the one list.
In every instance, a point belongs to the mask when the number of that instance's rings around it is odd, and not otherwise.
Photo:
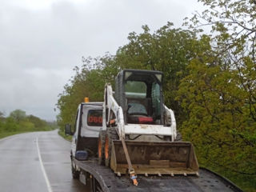
[[(190, 28), (211, 26), (210, 55), (194, 58), (178, 100), (186, 111), (183, 138), (194, 143), (201, 165), (250, 190), (256, 188), (256, 4), (201, 0)], [(188, 24), (188, 23), (186, 23)]]

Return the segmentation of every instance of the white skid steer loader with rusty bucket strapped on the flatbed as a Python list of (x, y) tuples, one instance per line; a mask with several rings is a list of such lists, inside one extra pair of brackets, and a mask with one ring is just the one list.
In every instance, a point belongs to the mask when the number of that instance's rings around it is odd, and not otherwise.
[(198, 162), (190, 142), (177, 141), (173, 110), (163, 103), (162, 72), (122, 70), (115, 92), (105, 86), (98, 162), (114, 173), (197, 174)]

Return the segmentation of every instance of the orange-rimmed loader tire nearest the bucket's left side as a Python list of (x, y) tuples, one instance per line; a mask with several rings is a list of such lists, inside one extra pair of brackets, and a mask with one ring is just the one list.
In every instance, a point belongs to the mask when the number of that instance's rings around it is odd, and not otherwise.
[(112, 149), (112, 140), (118, 139), (118, 133), (116, 132), (114, 127), (109, 127), (106, 130), (106, 138), (105, 138), (105, 166), (110, 166), (110, 158), (111, 158), (111, 149)]

